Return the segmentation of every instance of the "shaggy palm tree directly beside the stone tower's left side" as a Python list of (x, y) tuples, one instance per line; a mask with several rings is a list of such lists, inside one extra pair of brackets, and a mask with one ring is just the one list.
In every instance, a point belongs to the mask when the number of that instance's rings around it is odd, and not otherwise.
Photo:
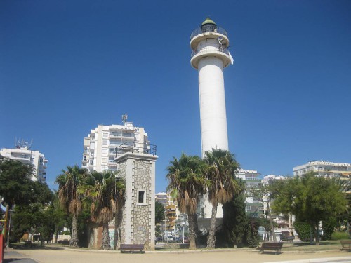
[(124, 204), (126, 183), (124, 179), (117, 177), (111, 170), (102, 173), (94, 171), (86, 180), (79, 191), (84, 192), (91, 200), (91, 217), (102, 224), (102, 250), (110, 250), (109, 222), (117, 211), (121, 213), (121, 205)]

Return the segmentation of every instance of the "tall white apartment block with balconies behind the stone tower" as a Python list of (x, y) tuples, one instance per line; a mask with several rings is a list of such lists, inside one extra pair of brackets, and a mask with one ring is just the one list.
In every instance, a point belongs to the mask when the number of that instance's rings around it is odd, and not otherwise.
[(145, 153), (150, 150), (144, 128), (135, 127), (133, 123), (126, 121), (122, 125), (99, 125), (84, 137), (81, 167), (98, 172), (117, 170), (114, 159), (133, 150)]

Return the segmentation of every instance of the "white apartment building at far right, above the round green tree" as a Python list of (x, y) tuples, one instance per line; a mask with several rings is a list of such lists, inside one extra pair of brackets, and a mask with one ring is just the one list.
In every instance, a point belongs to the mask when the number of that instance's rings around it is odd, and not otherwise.
[(351, 175), (351, 163), (333, 163), (330, 161), (309, 161), (301, 166), (293, 168), (294, 176), (305, 175), (315, 172), (323, 177), (349, 178)]

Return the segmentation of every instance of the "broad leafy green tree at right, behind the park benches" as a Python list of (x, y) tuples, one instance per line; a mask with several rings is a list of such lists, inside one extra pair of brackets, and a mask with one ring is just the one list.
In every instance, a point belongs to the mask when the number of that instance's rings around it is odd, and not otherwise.
[(347, 210), (340, 184), (334, 178), (317, 177), (313, 172), (285, 181), (277, 189), (274, 210), (284, 215), (291, 212), (298, 221), (310, 224), (319, 245), (319, 222)]

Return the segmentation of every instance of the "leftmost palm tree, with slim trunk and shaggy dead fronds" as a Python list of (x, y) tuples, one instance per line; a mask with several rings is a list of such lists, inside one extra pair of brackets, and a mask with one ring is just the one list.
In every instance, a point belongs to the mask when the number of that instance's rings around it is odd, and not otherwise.
[(84, 177), (88, 174), (85, 168), (79, 166), (67, 166), (67, 170), (62, 170), (62, 174), (56, 177), (58, 184), (58, 202), (66, 213), (72, 214), (72, 236), (69, 244), (78, 245), (77, 216), (81, 212), (83, 196), (77, 191)]

